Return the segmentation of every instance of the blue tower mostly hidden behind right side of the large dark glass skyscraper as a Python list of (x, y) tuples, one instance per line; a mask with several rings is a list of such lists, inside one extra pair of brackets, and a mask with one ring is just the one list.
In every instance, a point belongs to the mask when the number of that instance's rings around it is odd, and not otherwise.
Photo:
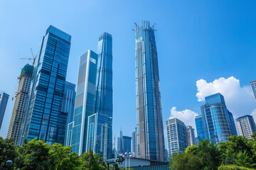
[(68, 133), (68, 124), (73, 122), (75, 108), (75, 84), (65, 81), (65, 89), (63, 94), (62, 112), (68, 113), (65, 128), (65, 146), (70, 146), (70, 133)]

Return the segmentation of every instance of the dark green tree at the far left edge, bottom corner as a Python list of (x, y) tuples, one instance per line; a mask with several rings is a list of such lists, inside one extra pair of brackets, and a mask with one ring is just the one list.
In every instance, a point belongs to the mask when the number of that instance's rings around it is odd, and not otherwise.
[[(6, 166), (6, 161), (11, 160), (15, 163), (17, 157), (16, 147), (13, 139), (0, 137), (0, 169)], [(12, 166), (14, 167), (14, 166)]]

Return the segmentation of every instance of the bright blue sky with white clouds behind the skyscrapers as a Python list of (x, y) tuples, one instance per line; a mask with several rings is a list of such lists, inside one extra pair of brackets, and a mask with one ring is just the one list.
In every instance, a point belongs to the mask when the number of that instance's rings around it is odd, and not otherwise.
[[(193, 125), (203, 104), (198, 98), (215, 92), (224, 95), (235, 118), (256, 115), (250, 89), (256, 79), (255, 6), (256, 1), (1, 0), (0, 91), (14, 96), (20, 68), (28, 63), (20, 58), (31, 57), (30, 48), (38, 51), (49, 25), (72, 35), (67, 76), (72, 83), (80, 55), (97, 51), (99, 35), (108, 32), (113, 38), (113, 135), (122, 128), (131, 136), (136, 125), (132, 29), (148, 20), (156, 23), (164, 122), (177, 115)], [(10, 99), (0, 136), (6, 137), (13, 106)]]

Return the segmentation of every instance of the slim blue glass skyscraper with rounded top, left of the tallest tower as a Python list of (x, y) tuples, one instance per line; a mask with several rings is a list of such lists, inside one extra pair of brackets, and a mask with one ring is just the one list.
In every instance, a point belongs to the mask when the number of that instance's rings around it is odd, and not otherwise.
[(100, 35), (97, 54), (95, 152), (100, 154), (100, 157), (108, 159), (112, 157), (112, 35), (109, 33)]

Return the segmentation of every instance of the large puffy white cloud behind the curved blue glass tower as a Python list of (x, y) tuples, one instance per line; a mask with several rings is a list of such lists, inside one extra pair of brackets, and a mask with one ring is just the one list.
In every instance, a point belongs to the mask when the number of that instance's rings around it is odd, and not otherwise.
[(228, 79), (220, 77), (209, 83), (204, 79), (200, 79), (196, 81), (196, 86), (198, 101), (205, 101), (204, 97), (210, 94), (222, 94), (228, 110), (233, 113), (234, 118), (238, 118), (241, 115), (249, 115), (256, 108), (250, 85), (241, 86), (240, 80), (235, 79), (235, 77), (229, 77)]

